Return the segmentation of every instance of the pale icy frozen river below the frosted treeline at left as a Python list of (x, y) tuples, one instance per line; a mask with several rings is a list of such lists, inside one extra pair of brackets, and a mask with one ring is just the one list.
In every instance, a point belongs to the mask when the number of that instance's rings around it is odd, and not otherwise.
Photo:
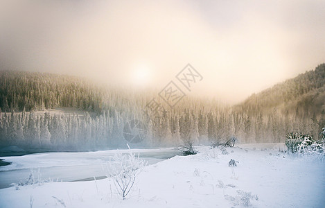
[[(174, 157), (179, 153), (173, 148), (135, 149), (140, 157), (155, 164), (164, 159)], [(35, 153), (15, 157), (0, 157), (10, 165), (0, 166), (0, 189), (10, 187), (10, 184), (27, 180), (30, 169), (35, 173), (38, 169), (42, 179), (59, 181), (78, 181), (103, 178), (107, 175), (105, 164), (114, 153), (130, 153), (130, 150), (103, 150), (86, 153)], [(36, 175), (35, 175), (36, 176)]]

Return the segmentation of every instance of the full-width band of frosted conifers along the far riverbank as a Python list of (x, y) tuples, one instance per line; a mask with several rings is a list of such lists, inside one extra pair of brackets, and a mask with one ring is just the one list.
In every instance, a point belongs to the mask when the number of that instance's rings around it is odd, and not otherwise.
[(324, 127), (319, 127), (313, 119), (276, 111), (268, 116), (251, 117), (225, 109), (185, 110), (155, 118), (108, 110), (97, 116), (87, 112), (54, 116), (48, 112), (44, 115), (11, 112), (0, 118), (0, 144), (50, 150), (125, 148), (128, 141), (123, 137), (123, 128), (132, 119), (140, 119), (147, 125), (146, 138), (137, 147), (178, 146), (186, 141), (218, 144), (232, 136), (242, 143), (283, 142), (287, 132), (306, 132), (317, 139), (319, 128)]

